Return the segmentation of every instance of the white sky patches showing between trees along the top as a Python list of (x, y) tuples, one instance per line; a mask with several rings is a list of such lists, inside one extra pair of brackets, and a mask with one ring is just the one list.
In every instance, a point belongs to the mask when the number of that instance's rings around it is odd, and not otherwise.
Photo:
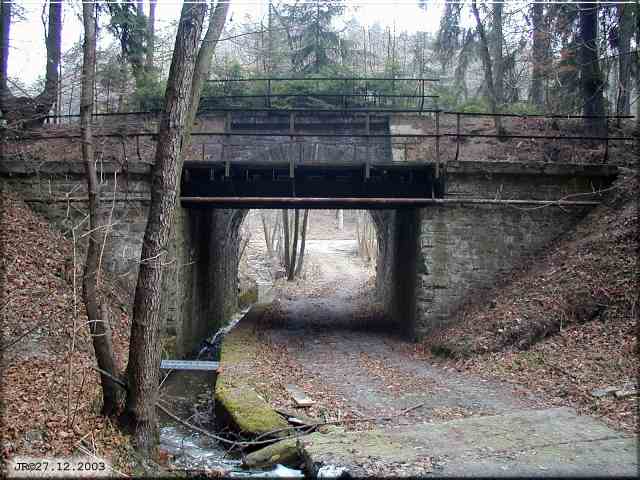
[[(0, 0), (2, 1), (2, 0)], [(11, 26), (9, 76), (24, 84), (33, 83), (45, 71), (44, 29), (42, 24), (43, 0), (21, 0), (26, 19)], [(158, 0), (157, 29), (169, 25), (180, 16), (181, 1)], [(260, 20), (267, 12), (267, 0), (231, 0), (234, 23), (249, 15)], [(393, 27), (398, 33), (406, 30), (434, 32), (440, 23), (442, 2), (430, 0), (427, 10), (418, 7), (418, 0), (345, 0), (347, 18), (355, 15), (360, 24), (379, 23), (383, 28)], [(145, 7), (148, 7), (145, 0)], [(67, 0), (63, 9), (62, 50), (69, 49), (82, 37), (80, 0)]]

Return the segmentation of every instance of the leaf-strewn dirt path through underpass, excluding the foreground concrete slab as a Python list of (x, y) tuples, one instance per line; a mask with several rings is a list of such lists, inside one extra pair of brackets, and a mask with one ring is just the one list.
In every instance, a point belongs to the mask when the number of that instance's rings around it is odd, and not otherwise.
[[(315, 276), (281, 290), (279, 318), (265, 333), (271, 344), (286, 346), (315, 385), (336, 392), (351, 410), (343, 414), (385, 416), (422, 404), (402, 421), (429, 422), (544, 406), (512, 386), (412, 359), (410, 344), (371, 331), (371, 272), (354, 241), (311, 241), (307, 255)], [(322, 393), (308, 393), (322, 402)]]

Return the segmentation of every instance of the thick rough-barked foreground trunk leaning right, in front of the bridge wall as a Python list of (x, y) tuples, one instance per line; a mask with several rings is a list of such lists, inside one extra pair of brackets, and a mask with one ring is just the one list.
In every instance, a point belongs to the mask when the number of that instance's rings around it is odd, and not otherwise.
[(137, 449), (147, 455), (155, 453), (158, 442), (155, 404), (160, 371), (162, 265), (182, 174), (181, 149), (189, 131), (192, 82), (206, 10), (205, 3), (185, 2), (182, 6), (151, 171), (151, 205), (134, 297), (124, 420), (135, 432)]

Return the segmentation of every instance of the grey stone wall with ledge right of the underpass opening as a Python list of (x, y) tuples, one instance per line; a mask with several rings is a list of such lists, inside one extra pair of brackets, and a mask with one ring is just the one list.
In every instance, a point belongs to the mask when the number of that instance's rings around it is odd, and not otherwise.
[[(449, 198), (588, 200), (589, 192), (610, 183), (612, 172), (601, 166), (461, 162), (448, 168), (447, 194)], [(421, 209), (416, 334), (454, 322), (456, 310), (465, 302), (481, 299), (499, 275), (528, 259), (535, 261), (588, 210), (506, 204)]]

